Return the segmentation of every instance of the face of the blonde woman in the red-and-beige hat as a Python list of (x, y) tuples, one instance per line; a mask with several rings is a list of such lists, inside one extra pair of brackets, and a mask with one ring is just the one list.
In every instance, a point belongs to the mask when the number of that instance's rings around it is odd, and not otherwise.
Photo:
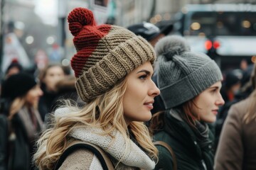
[(151, 119), (154, 97), (160, 91), (152, 81), (153, 67), (146, 62), (127, 75), (127, 90), (124, 93), (124, 118), (129, 124), (132, 121)]

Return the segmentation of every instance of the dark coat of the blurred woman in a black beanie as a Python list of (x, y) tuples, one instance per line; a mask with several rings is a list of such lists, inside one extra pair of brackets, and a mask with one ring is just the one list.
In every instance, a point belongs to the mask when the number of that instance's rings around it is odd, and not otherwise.
[[(36, 126), (33, 126), (30, 114), (27, 108), (22, 108), (9, 122), (7, 126), (7, 118), (2, 118), (1, 131), (4, 131), (6, 135), (1, 137), (7, 137), (1, 139), (0, 157), (4, 158), (5, 164), (0, 164), (0, 169), (4, 166), (11, 170), (29, 170), (32, 167), (32, 157), (35, 152), (35, 142), (38, 139), (38, 135), (43, 130), (43, 122), (38, 111), (34, 111), (34, 121)], [(1, 159), (0, 159), (1, 160)]]

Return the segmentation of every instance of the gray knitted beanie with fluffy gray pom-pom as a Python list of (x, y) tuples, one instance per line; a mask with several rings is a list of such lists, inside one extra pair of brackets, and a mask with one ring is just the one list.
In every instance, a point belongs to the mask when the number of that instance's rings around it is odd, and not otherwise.
[(155, 50), (157, 83), (166, 109), (189, 101), (223, 79), (218, 65), (203, 53), (191, 52), (180, 36), (162, 38)]

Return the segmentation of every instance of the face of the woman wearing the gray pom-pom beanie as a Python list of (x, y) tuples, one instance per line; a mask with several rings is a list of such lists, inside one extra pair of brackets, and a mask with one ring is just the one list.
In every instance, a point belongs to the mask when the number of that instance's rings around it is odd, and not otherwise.
[(193, 115), (199, 116), (206, 123), (213, 123), (218, 114), (218, 108), (225, 103), (220, 94), (221, 82), (218, 81), (201, 94), (196, 96), (192, 106)]

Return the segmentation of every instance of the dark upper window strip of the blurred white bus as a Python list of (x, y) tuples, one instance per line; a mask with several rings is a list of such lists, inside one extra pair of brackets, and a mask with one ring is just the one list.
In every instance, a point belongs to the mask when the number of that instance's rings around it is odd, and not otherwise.
[(256, 35), (256, 13), (193, 12), (186, 35)]

